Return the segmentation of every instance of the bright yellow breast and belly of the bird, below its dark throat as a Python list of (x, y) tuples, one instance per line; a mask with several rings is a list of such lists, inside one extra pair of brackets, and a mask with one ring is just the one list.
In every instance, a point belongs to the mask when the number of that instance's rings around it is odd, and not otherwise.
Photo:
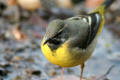
[(45, 57), (53, 64), (61, 67), (73, 67), (84, 63), (92, 54), (94, 48), (88, 50), (69, 49), (68, 44), (64, 43), (60, 48), (51, 51), (47, 44), (43, 46), (44, 39), (41, 43), (41, 49)]

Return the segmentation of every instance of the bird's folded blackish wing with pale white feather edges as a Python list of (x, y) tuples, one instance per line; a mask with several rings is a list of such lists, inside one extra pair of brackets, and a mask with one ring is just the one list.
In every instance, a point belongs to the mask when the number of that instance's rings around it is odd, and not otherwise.
[(81, 27), (81, 33), (78, 35), (74, 41), (71, 41), (73, 46), (78, 46), (79, 48), (86, 49), (91, 42), (94, 40), (95, 36), (100, 27), (101, 22), (101, 15), (99, 13), (92, 13), (88, 15), (81, 15), (77, 17), (69, 18), (70, 20), (83, 20), (84, 22), (88, 23), (89, 26), (85, 28)]

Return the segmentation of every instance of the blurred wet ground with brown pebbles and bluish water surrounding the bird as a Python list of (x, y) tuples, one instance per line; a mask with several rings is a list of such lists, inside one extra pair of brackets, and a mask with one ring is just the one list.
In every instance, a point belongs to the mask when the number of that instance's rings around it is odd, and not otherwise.
[[(49, 63), (40, 49), (48, 23), (87, 14), (102, 1), (0, 0), (0, 80), (58, 80), (61, 67)], [(73, 76), (69, 80), (79, 80), (79, 73), (79, 66), (65, 69), (65, 75)], [(105, 27), (84, 76), (120, 80), (120, 0), (106, 11)]]

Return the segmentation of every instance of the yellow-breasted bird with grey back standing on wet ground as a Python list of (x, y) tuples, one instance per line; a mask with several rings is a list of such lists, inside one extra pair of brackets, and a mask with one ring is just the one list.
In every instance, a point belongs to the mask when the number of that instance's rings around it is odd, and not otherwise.
[(82, 80), (85, 62), (92, 56), (102, 32), (105, 11), (113, 2), (104, 0), (88, 14), (56, 19), (48, 24), (41, 50), (51, 63), (63, 67), (62, 75), (65, 67), (80, 65)]

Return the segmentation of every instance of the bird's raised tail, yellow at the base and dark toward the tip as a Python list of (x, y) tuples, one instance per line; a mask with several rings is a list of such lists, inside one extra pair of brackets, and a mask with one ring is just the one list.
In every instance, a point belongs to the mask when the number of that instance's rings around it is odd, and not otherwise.
[(98, 6), (95, 10), (93, 10), (91, 13), (98, 12), (100, 14), (105, 13), (105, 10), (114, 2), (115, 0), (103, 0), (103, 3)]

